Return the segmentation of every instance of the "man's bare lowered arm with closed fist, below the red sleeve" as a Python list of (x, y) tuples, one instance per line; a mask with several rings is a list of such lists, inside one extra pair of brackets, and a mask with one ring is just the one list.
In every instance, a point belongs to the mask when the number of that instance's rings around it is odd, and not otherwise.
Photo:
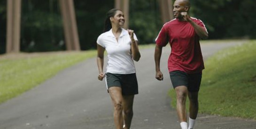
[(162, 48), (162, 46), (155, 45), (155, 78), (160, 81), (163, 80), (163, 74), (160, 70)]

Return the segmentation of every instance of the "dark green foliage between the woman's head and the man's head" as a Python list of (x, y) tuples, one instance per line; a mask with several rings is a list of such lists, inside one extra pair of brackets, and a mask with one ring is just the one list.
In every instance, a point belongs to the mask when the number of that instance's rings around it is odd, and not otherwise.
[(130, 21), (140, 44), (154, 43), (163, 26), (158, 2), (155, 0), (130, 0)]

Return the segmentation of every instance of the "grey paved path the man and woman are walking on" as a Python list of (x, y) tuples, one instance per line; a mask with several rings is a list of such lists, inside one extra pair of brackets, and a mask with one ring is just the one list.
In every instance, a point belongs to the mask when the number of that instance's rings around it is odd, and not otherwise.
[[(202, 44), (204, 59), (238, 44)], [(140, 93), (134, 100), (132, 129), (180, 129), (167, 96), (169, 53), (169, 47), (163, 49), (160, 82), (155, 79), (154, 48), (141, 50), (135, 63)], [(97, 73), (96, 59), (89, 59), (1, 104), (0, 129), (114, 129), (111, 100)], [(256, 129), (256, 121), (199, 114), (195, 129)]]

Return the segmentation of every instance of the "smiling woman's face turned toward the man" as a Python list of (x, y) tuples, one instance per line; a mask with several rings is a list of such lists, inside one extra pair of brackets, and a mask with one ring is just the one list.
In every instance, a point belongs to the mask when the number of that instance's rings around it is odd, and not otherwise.
[(115, 25), (117, 27), (122, 27), (124, 26), (124, 14), (122, 11), (117, 10), (116, 14), (114, 15), (114, 17), (110, 17), (110, 21), (112, 23), (112, 25)]

